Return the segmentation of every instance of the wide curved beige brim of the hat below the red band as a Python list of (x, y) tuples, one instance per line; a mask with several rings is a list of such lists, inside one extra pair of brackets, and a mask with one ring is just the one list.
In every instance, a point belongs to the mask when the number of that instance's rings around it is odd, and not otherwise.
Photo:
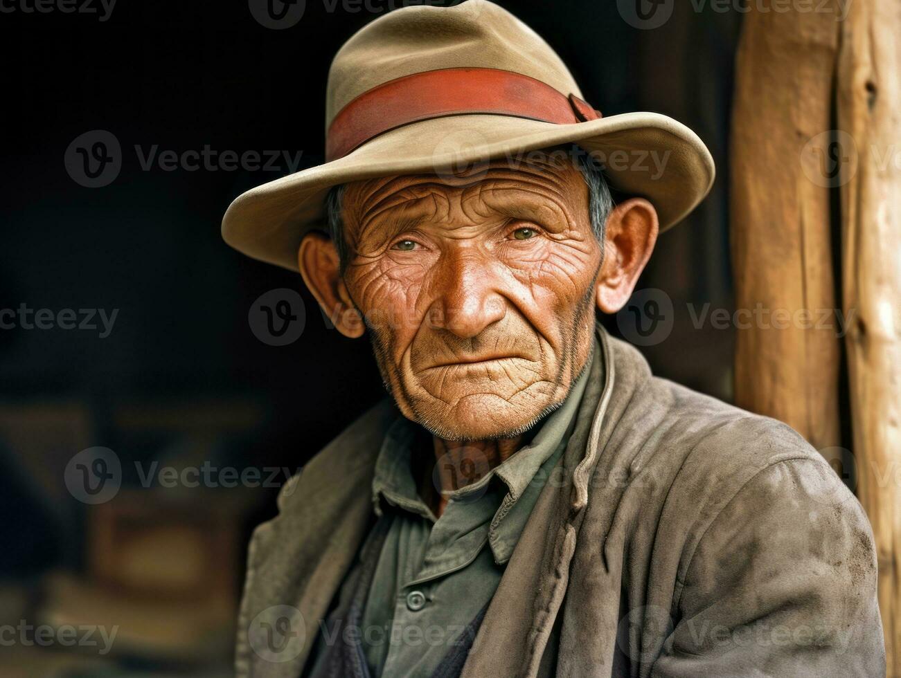
[(714, 160), (695, 132), (659, 113), (623, 113), (576, 124), (501, 115), (455, 115), (388, 131), (344, 158), (256, 186), (223, 217), (223, 239), (248, 257), (297, 270), (305, 233), (327, 230), (323, 200), (334, 185), (376, 176), (454, 171), (496, 158), (577, 143), (601, 160), (610, 184), (647, 198), (663, 231), (704, 199)]

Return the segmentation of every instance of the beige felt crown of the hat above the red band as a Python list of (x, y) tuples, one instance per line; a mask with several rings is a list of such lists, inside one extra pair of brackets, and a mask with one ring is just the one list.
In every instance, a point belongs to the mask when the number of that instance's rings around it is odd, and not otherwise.
[(364, 26), (332, 61), (326, 130), (357, 96), (398, 77), (441, 68), (497, 68), (581, 96), (569, 69), (525, 23), (488, 0), (415, 5)]

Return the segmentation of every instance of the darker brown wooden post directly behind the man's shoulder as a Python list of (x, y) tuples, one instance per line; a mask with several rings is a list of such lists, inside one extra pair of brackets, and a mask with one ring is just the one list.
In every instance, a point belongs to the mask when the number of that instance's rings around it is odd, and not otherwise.
[[(768, 0), (749, 3), (736, 59), (731, 151), (735, 307), (742, 321), (736, 404), (786, 421), (820, 449), (840, 444), (830, 186), (828, 177), (817, 180), (831, 129), (841, 26), (840, 7), (826, 6), (828, 12), (822, 5), (800, 12)], [(817, 319), (829, 312), (824, 328)]]

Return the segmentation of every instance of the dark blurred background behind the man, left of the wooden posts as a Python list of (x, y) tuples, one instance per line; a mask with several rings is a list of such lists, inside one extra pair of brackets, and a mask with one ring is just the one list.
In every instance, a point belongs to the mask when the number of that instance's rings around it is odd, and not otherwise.
[[(694, 329), (686, 304), (731, 308), (724, 158), (741, 15), (678, 3), (669, 22), (638, 30), (614, 0), (499, 4), (551, 43), (605, 115), (667, 113), (713, 151), (713, 194), (661, 237), (639, 285), (665, 290), (675, 308), (669, 338), (642, 350), (659, 375), (728, 400), (733, 333)], [(286, 174), (284, 160), (279, 171), (165, 171), (143, 169), (134, 147), (302, 151), (300, 168), (321, 164), (332, 55), (400, 5), (338, 3), (330, 12), (331, 3), (307, 0), (301, 21), (278, 31), (255, 21), (246, 0), (120, 0), (106, 21), (55, 8), (29, 13), (31, 0), (7, 0), (0, 309), (118, 315), (105, 339), (100, 330), (0, 330), (0, 624), (55, 619), (55, 606), (77, 619), (79, 595), (107, 594), (150, 626), (197, 601), (230, 619), (244, 543), (274, 514), (278, 488), (148, 490), (132, 463), (296, 469), (383, 395), (367, 342), (327, 329), (299, 276), (243, 258), (220, 238), (232, 199)], [(90, 6), (103, 14), (96, 0)], [(95, 130), (119, 141), (122, 169), (111, 184), (86, 188), (64, 156)], [(277, 288), (297, 289), (306, 310), (303, 335), (284, 347), (257, 339), (248, 322), (254, 300)], [(618, 331), (614, 319), (607, 324)], [(63, 480), (71, 457), (95, 446), (113, 449), (126, 469), (123, 491), (100, 510), (73, 498)], [(211, 531), (213, 545), (205, 542)], [(177, 564), (191, 539), (203, 543), (193, 581), (151, 576)], [(123, 544), (137, 546), (123, 556)], [(159, 562), (141, 560), (147, 553)], [(223, 581), (209, 583), (216, 572)], [(151, 603), (152, 614), (144, 609)], [(123, 637), (131, 612), (92, 614), (123, 626)], [(142, 643), (137, 630), (101, 658), (89, 648), (3, 647), (0, 667), (11, 675), (227, 674), (232, 629), (213, 626), (202, 652), (152, 633)]]

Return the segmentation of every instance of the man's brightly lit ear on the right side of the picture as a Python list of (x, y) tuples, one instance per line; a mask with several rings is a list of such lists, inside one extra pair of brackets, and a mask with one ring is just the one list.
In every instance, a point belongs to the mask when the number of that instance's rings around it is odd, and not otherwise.
[(644, 198), (626, 200), (610, 212), (595, 294), (602, 312), (615, 313), (629, 301), (638, 276), (651, 258), (659, 229), (657, 210)]

